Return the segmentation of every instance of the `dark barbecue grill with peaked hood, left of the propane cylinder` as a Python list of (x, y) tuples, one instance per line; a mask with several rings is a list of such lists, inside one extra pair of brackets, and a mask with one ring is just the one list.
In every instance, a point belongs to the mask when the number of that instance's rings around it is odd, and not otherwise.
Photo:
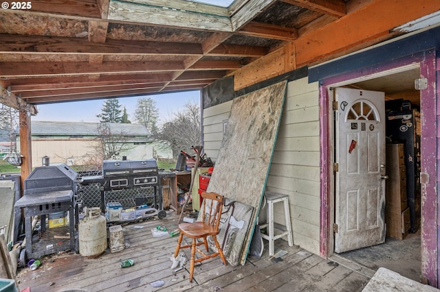
[[(77, 173), (63, 163), (36, 167), (24, 181), (23, 197), (16, 208), (24, 208), (26, 254), (39, 257), (62, 250), (78, 250), (76, 204), (78, 182)], [(69, 211), (69, 226), (46, 228), (46, 216)], [(40, 216), (41, 230), (32, 236), (32, 217)]]

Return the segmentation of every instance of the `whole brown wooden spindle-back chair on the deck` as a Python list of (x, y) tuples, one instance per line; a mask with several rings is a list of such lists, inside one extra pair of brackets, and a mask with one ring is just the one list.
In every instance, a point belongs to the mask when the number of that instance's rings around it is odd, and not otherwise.
[[(203, 197), (203, 203), (200, 208), (201, 221), (196, 221), (194, 223), (180, 223), (179, 230), (180, 236), (177, 241), (176, 251), (174, 257), (177, 258), (179, 255), (179, 250), (182, 248), (191, 247), (191, 258), (190, 258), (190, 282), (192, 282), (192, 276), (194, 276), (194, 266), (195, 263), (199, 263), (202, 260), (207, 260), (208, 258), (213, 258), (214, 256), (220, 255), (223, 265), (226, 265), (226, 259), (223, 255), (223, 250), (217, 241), (217, 234), (219, 234), (219, 224), (221, 217), (221, 210), (223, 208), (223, 196), (217, 193), (201, 193)], [(181, 241), (185, 236), (192, 239), (190, 245), (181, 245)], [(204, 244), (206, 252), (209, 252), (208, 241), (206, 241), (206, 236), (212, 236), (214, 239), (215, 246), (217, 247), (217, 252), (213, 254), (205, 254), (197, 246)], [(197, 241), (197, 239), (203, 239), (203, 242)], [(201, 254), (201, 258), (195, 259), (195, 252)]]

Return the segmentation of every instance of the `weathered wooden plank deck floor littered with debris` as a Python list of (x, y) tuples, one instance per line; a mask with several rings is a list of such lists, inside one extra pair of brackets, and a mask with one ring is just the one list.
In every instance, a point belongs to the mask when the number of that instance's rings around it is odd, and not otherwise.
[[(245, 265), (221, 265), (219, 257), (196, 265), (189, 282), (189, 263), (175, 273), (170, 256), (177, 236), (154, 237), (151, 229), (161, 224), (177, 228), (176, 215), (123, 226), (129, 247), (121, 252), (104, 252), (94, 259), (80, 254), (42, 258), (35, 271), (25, 268), (17, 274), (19, 289), (39, 291), (362, 291), (369, 278), (278, 239), (276, 245), (288, 253), (273, 263), (267, 250), (259, 258), (248, 257)], [(140, 228), (142, 227), (142, 228)], [(188, 254), (187, 254), (188, 256)], [(135, 265), (122, 269), (121, 260), (133, 258)], [(155, 288), (151, 283), (162, 280)]]

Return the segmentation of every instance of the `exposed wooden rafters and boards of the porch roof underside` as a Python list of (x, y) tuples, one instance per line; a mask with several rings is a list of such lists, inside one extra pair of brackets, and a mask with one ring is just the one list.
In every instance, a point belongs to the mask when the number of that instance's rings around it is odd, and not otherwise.
[(31, 105), (199, 90), (369, 1), (32, 1), (0, 10), (0, 89)]

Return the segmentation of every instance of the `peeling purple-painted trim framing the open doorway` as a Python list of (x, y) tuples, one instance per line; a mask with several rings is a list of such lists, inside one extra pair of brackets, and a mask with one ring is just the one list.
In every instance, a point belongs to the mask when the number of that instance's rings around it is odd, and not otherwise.
[[(440, 61), (439, 61), (440, 62)], [(427, 174), (426, 184), (422, 186), (421, 204), (422, 204), (422, 220), (421, 220), (421, 258), (422, 267), (421, 273), (423, 278), (426, 278), (430, 285), (439, 287), (438, 279), (440, 278), (440, 255), (438, 252), (438, 245), (440, 244), (440, 222), (437, 222), (437, 106), (440, 108), (440, 101), (436, 99), (436, 81), (435, 80), (435, 52), (426, 51), (422, 53), (415, 53), (405, 58), (399, 58), (392, 62), (384, 62), (381, 66), (371, 66), (369, 68), (359, 69), (329, 77), (327, 80), (322, 80), (320, 83), (320, 165), (321, 165), (321, 186), (320, 186), (320, 254), (328, 256), (329, 254), (329, 179), (331, 165), (328, 163), (330, 139), (328, 104), (329, 97), (327, 95), (327, 87), (332, 84), (344, 82), (346, 80), (353, 80), (362, 76), (373, 75), (390, 69), (399, 68), (408, 64), (420, 63), (420, 71), (423, 77), (428, 79), (428, 88), (421, 90), (421, 134), (423, 140), (421, 142), (421, 171)], [(439, 96), (440, 98), (440, 96)]]

